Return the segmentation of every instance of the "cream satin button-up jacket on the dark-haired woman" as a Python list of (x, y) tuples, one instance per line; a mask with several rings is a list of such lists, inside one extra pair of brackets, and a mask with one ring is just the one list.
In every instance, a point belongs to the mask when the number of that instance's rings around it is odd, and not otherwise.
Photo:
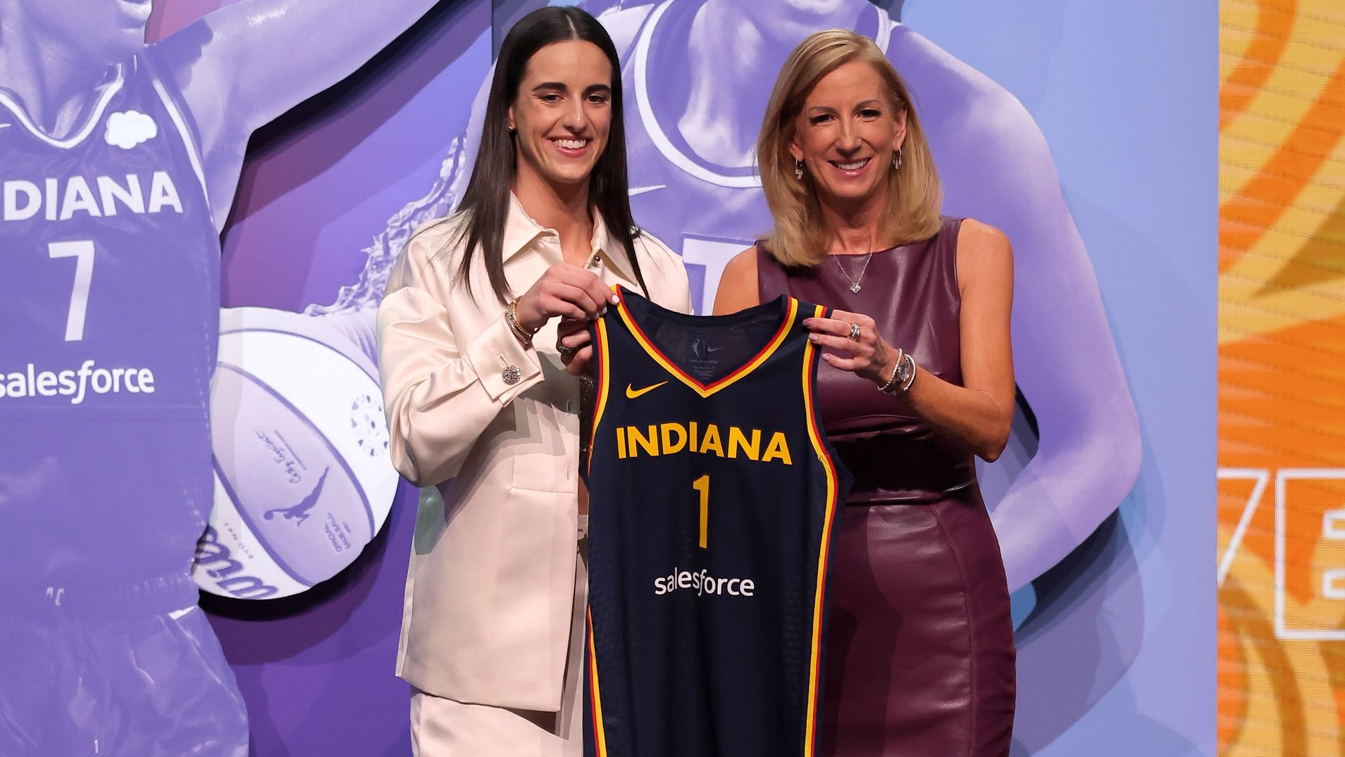
[[(525, 348), (473, 255), (457, 280), (461, 216), (422, 227), (393, 266), (378, 309), (393, 464), (421, 489), (397, 675), (436, 696), (557, 711), (574, 598), (578, 379), (551, 319)], [(690, 312), (682, 258), (642, 234), (648, 294)], [(504, 274), (515, 294), (561, 262), (561, 239), (510, 196)], [(586, 260), (639, 290), (625, 254), (594, 223)]]

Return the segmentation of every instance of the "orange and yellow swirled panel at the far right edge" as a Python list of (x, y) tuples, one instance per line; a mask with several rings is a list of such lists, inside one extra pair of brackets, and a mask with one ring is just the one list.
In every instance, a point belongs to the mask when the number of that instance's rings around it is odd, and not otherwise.
[(1219, 754), (1345, 756), (1345, 3), (1225, 0)]

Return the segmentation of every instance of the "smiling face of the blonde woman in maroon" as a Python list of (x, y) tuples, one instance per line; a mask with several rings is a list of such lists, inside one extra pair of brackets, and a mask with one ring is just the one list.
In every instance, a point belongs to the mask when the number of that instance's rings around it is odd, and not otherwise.
[(803, 161), (823, 204), (882, 203), (892, 155), (905, 136), (905, 110), (893, 108), (882, 78), (851, 61), (804, 97), (790, 155)]

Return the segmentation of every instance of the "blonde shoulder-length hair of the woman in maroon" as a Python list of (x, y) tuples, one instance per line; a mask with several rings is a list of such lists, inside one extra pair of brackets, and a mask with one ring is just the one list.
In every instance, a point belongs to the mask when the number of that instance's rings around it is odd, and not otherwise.
[(827, 257), (831, 239), (818, 194), (808, 175), (802, 180), (795, 177), (790, 144), (808, 93), (823, 77), (851, 61), (873, 66), (885, 85), (893, 116), (907, 114), (901, 169), (888, 171), (888, 202), (878, 238), (905, 245), (939, 231), (943, 190), (907, 83), (872, 39), (849, 30), (819, 31), (799, 43), (780, 69), (757, 137), (761, 188), (775, 225), (760, 242), (785, 266), (814, 266)]

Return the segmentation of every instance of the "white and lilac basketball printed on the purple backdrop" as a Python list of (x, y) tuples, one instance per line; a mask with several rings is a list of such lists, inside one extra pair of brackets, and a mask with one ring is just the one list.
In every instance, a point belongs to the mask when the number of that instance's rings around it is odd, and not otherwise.
[(223, 311), (211, 410), (215, 504), (196, 554), (200, 588), (296, 594), (378, 534), (398, 481), (378, 375), (327, 319)]

